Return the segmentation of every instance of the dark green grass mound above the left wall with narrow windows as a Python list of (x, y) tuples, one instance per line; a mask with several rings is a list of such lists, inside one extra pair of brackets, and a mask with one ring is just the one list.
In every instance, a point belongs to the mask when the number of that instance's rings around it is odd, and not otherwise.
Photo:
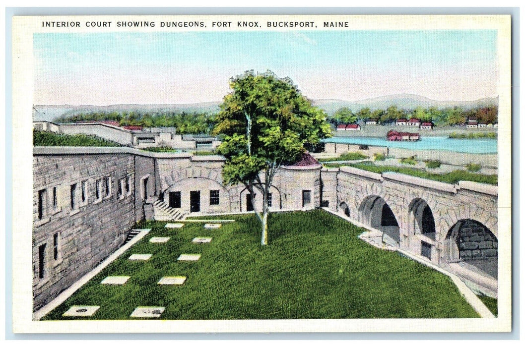
[(93, 135), (67, 135), (34, 130), (33, 146), (120, 147), (122, 145)]

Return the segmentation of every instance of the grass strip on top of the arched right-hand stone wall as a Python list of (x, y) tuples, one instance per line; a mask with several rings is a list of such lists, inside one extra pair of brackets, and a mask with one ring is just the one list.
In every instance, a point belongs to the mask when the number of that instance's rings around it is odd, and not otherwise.
[(489, 185), (498, 184), (498, 175), (484, 175), (476, 174), (475, 172), (469, 172), (465, 170), (454, 170), (447, 172), (446, 174), (433, 174), (422, 169), (409, 168), (409, 167), (398, 167), (398, 166), (387, 166), (387, 165), (374, 165), (372, 162), (359, 162), (355, 164), (325, 164), (327, 167), (341, 167), (341, 166), (352, 166), (358, 169), (367, 171), (377, 172), (382, 174), (386, 171), (399, 172), (400, 174), (411, 175), (421, 178), (427, 178), (434, 181), (440, 181), (445, 183), (455, 184), (459, 181), (472, 181), (480, 183), (488, 183)]

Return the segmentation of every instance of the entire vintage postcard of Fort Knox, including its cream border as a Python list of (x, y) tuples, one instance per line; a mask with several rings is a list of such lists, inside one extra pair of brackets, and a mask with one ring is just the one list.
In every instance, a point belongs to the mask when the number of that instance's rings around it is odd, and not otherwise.
[(510, 331), (510, 42), (14, 17), (14, 332)]

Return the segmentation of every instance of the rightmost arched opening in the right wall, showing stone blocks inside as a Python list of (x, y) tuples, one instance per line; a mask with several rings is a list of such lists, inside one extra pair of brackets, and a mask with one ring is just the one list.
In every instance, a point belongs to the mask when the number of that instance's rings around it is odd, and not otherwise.
[(498, 278), (498, 239), (478, 221), (462, 219), (445, 238), (447, 261), (462, 262), (471, 269)]

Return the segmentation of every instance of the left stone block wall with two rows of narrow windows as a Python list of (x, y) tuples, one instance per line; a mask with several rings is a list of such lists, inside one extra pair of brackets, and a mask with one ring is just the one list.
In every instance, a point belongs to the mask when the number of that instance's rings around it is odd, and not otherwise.
[(124, 242), (135, 221), (135, 170), (130, 154), (35, 155), (33, 170), (38, 309)]

